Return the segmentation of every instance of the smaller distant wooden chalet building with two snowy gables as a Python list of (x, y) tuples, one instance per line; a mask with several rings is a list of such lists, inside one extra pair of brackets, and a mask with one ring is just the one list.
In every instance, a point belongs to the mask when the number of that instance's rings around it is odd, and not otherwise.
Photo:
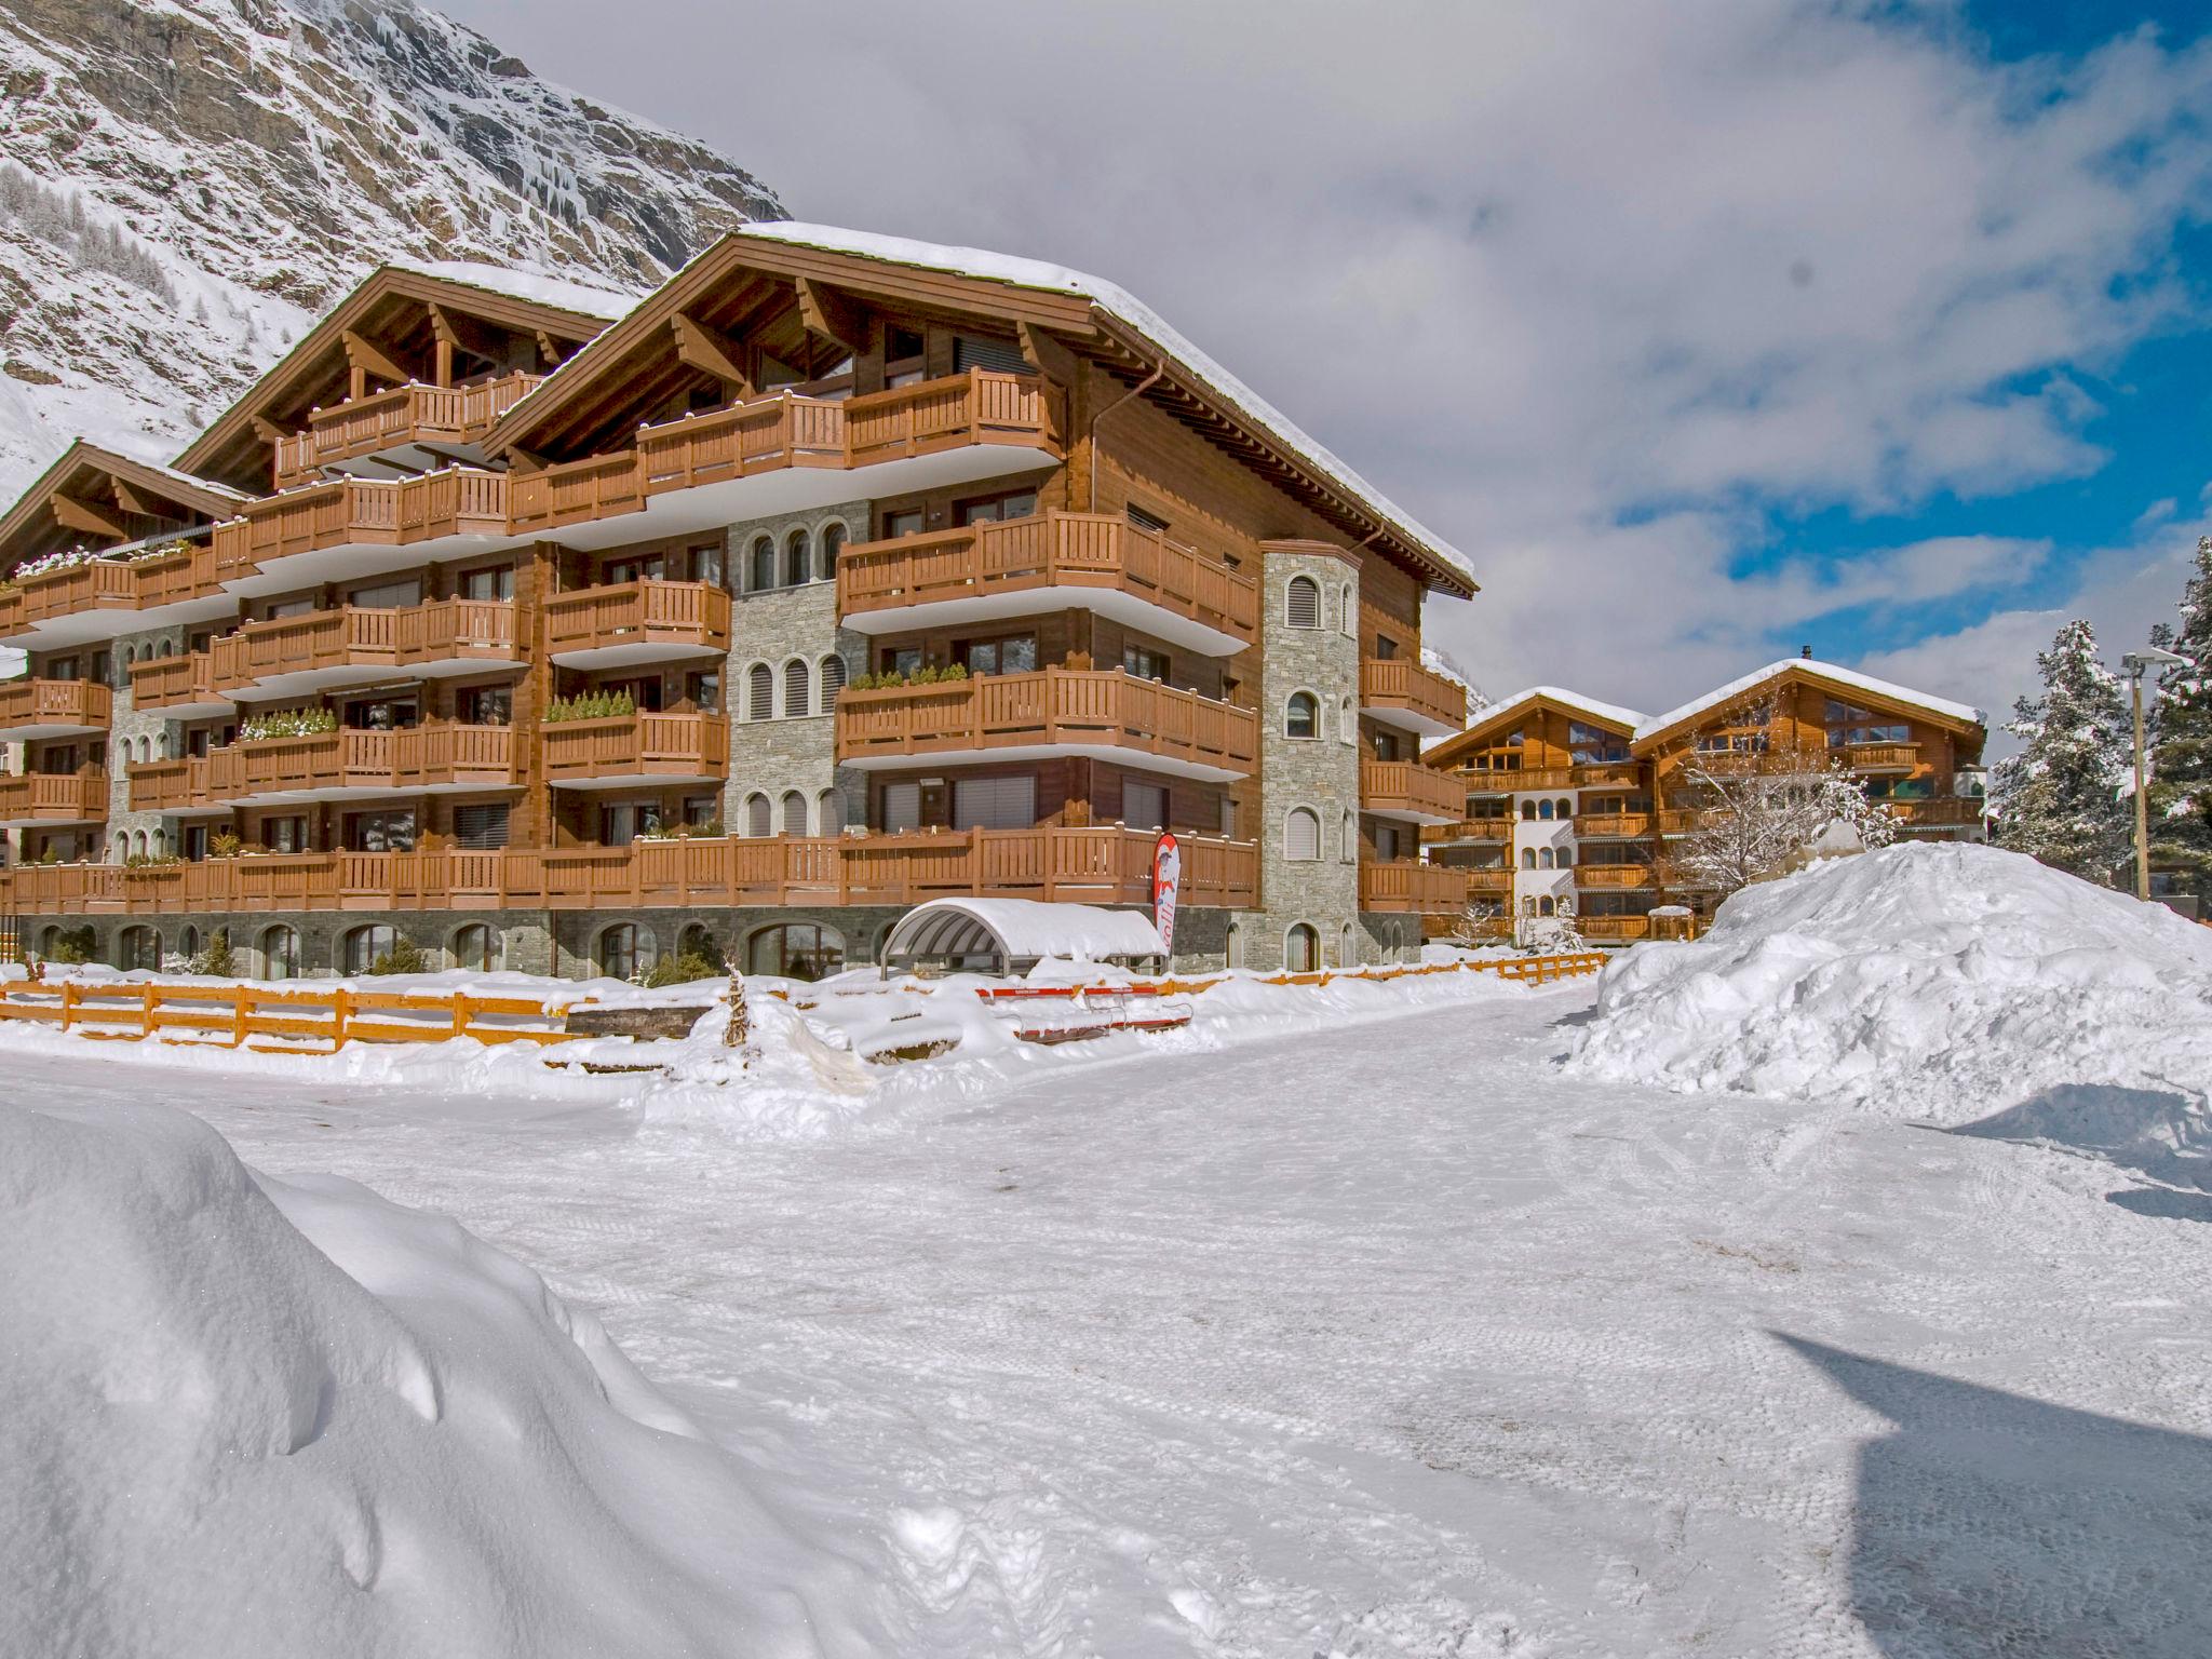
[[(1714, 894), (1674, 874), (1670, 843), (1703, 810), (1699, 763), (1840, 763), (1907, 836), (1984, 838), (1982, 714), (1792, 657), (1666, 714), (1537, 686), (1495, 703), (1422, 759), (1449, 768), (1458, 823), (1422, 832), (1498, 938), (1573, 916), (1601, 945), (1692, 931)], [(1655, 918), (1652, 911), (1659, 911)], [(1431, 920), (1431, 931), (1462, 927)]]

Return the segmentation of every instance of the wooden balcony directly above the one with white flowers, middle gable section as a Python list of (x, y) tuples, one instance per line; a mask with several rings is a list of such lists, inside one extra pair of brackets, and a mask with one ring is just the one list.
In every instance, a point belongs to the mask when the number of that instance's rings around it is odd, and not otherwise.
[(509, 599), (436, 599), (394, 611), (307, 611), (248, 622), (208, 648), (217, 695), (292, 695), (385, 679), (522, 661)]

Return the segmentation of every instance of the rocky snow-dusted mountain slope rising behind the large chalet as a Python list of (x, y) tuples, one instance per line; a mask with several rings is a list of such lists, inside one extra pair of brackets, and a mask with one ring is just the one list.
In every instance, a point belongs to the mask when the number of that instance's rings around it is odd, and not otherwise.
[(385, 257), (648, 288), (783, 208), (414, 0), (7, 0), (0, 500), (166, 460)]

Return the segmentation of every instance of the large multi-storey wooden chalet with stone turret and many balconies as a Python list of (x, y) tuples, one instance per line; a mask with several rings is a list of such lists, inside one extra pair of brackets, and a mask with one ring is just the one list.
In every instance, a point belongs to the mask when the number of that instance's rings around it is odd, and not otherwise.
[(389, 265), (170, 467), (0, 522), (0, 909), (146, 967), (874, 960), (942, 894), (1418, 949), (1460, 557), (1108, 283), (745, 226), (648, 296)]

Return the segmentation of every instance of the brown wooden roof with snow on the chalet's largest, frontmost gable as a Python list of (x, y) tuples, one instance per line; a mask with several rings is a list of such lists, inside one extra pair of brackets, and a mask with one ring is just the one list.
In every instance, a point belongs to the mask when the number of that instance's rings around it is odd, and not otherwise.
[[(785, 283), (834, 283), (878, 301), (993, 314), (1104, 361), (1133, 385), (1159, 369), (1148, 392), (1159, 407), (1248, 462), (1279, 469), (1294, 493), (1343, 526), (1354, 544), (1394, 555), (1442, 593), (1464, 597), (1475, 591), (1467, 560), (1451, 544), (1115, 283), (1033, 259), (834, 226), (739, 226), (515, 405), (491, 431), (489, 447), (526, 447), (535, 434), (557, 431), (564, 418), (575, 420), (595, 378), (644, 372), (655, 354), (668, 356), (672, 321), (679, 314), (695, 323), (714, 321), (701, 319), (695, 307), (710, 305), (717, 288), (726, 290), (734, 274), (748, 270)], [(730, 323), (723, 327), (739, 332)]]

